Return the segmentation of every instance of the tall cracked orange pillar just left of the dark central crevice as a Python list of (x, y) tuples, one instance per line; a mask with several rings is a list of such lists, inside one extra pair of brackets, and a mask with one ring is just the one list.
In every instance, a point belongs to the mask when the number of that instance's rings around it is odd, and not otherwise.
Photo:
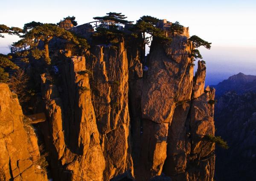
[(104, 180), (133, 169), (127, 159), (129, 143), (128, 59), (124, 42), (118, 47), (96, 47), (88, 61), (92, 70), (90, 82), (93, 105), (106, 160)]

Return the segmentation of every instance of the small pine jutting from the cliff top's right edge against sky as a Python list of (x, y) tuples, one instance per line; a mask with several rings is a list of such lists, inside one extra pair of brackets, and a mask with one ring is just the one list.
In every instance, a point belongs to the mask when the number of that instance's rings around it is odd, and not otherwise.
[(211, 44), (200, 37), (193, 35), (192, 37), (189, 38), (189, 40), (192, 42), (192, 51), (191, 51), (191, 57), (195, 59), (202, 59), (202, 55), (200, 54), (200, 51), (196, 48), (199, 48), (201, 46), (204, 46), (207, 49), (211, 48)]

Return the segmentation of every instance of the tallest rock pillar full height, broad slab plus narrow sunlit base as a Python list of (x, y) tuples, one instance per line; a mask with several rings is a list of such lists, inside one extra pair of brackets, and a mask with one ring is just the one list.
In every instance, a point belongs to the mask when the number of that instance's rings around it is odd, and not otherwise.
[[(182, 35), (167, 32), (167, 36), (172, 36), (172, 42), (167, 45), (153, 40), (147, 60), (148, 75), (130, 81), (136, 179), (161, 174), (166, 159), (168, 124), (172, 123), (177, 103), (191, 99), (193, 67), (187, 31), (185, 28)], [(183, 128), (180, 125), (182, 131)]]

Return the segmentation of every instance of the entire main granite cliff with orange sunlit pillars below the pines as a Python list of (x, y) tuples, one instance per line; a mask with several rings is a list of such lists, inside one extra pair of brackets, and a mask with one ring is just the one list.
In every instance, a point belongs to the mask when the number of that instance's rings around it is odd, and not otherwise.
[(198, 61), (193, 75), (189, 28), (174, 34), (169, 25), (161, 28), (172, 42), (153, 37), (146, 63), (136, 42), (121, 39), (114, 46), (96, 45), (81, 57), (61, 51), (54, 81), (49, 71), (41, 74), (34, 111), (47, 118), (39, 126), (49, 152), (50, 177), (213, 180), (215, 143), (204, 136), (215, 133), (210, 104), (215, 89), (205, 88), (204, 62)]

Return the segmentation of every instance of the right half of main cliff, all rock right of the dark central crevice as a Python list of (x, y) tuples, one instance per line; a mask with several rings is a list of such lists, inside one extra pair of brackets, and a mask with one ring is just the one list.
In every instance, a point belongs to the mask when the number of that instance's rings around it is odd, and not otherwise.
[(171, 43), (151, 44), (147, 75), (130, 80), (134, 176), (149, 180), (164, 173), (177, 181), (210, 181), (214, 144), (203, 137), (214, 135), (213, 105), (208, 102), (215, 91), (204, 90), (202, 62), (193, 77), (188, 28), (181, 35), (166, 34)]

